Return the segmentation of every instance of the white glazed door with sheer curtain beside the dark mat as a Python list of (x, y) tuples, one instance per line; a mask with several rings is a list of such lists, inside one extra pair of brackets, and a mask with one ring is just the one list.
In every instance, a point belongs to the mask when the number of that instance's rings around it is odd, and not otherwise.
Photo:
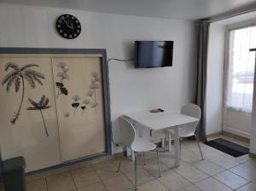
[(250, 137), (253, 106), (254, 55), (256, 26), (228, 31), (228, 61), (225, 69), (224, 130)]

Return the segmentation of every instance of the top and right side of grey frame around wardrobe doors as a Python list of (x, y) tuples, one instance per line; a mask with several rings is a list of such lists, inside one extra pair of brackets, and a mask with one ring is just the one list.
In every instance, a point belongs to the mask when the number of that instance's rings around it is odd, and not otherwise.
[[(102, 55), (102, 83), (103, 83), (103, 99), (104, 99), (104, 113), (105, 113), (105, 130), (106, 130), (106, 152), (99, 153), (93, 159), (101, 157), (102, 155), (112, 154), (111, 147), (111, 113), (110, 113), (110, 92), (108, 80), (108, 63), (106, 49), (48, 49), (48, 48), (0, 48), (0, 54), (78, 54), (78, 55)], [(84, 158), (85, 159), (85, 158)]]

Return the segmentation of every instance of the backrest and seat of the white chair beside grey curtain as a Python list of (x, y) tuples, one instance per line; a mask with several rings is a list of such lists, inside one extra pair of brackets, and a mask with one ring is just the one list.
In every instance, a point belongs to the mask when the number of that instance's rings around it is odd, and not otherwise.
[[(189, 116), (197, 118), (197, 119), (201, 119), (201, 108), (192, 103), (184, 105), (181, 109), (181, 113), (183, 113), (185, 115), (189, 115)], [(199, 123), (199, 121), (189, 123), (189, 124), (184, 124), (182, 130), (186, 131), (187, 133), (189, 133), (189, 132), (195, 133), (198, 123)]]

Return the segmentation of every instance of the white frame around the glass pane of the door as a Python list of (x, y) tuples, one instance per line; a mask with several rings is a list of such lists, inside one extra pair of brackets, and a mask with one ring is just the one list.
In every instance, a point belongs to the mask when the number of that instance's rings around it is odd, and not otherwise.
[[(237, 29), (247, 28), (247, 27), (251, 27), (251, 26), (256, 26), (255, 19), (238, 22), (236, 24), (228, 25), (225, 27), (223, 107), (224, 107), (224, 109), (233, 110), (233, 111), (240, 112), (240, 113), (245, 113), (245, 112), (242, 112), (233, 107), (226, 107), (227, 92), (228, 92), (228, 77), (231, 72), (231, 70), (230, 70), (230, 32), (237, 30)], [(256, 67), (256, 63), (255, 63), (255, 67)], [(255, 72), (256, 72), (256, 70), (254, 71), (254, 73)], [(254, 74), (254, 76), (255, 76), (255, 74)], [(254, 84), (254, 86), (255, 86), (255, 84)]]

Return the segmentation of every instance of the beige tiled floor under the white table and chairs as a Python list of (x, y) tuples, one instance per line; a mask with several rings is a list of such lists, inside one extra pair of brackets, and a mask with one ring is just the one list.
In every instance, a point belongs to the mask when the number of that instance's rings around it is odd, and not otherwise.
[[(230, 138), (228, 138), (230, 140)], [(234, 140), (231, 140), (234, 141)], [(239, 142), (247, 146), (246, 142)], [(201, 161), (196, 142), (185, 141), (181, 165), (161, 158), (162, 177), (158, 177), (155, 155), (147, 155), (143, 165), (138, 156), (139, 191), (256, 191), (256, 159), (248, 155), (233, 158), (201, 143)], [(124, 191), (133, 190), (133, 164), (125, 158), (116, 172), (118, 159), (105, 159), (73, 165), (57, 171), (27, 177), (27, 191)]]

